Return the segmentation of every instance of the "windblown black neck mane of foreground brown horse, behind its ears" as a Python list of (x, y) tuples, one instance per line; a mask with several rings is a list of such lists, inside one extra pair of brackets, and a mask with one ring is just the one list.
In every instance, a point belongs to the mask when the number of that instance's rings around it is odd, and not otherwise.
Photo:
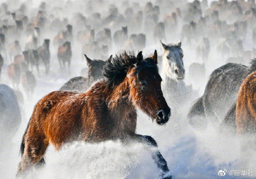
[(134, 52), (123, 52), (115, 58), (107, 60), (102, 73), (109, 87), (119, 85), (125, 79), (127, 72), (134, 67), (137, 59)]

